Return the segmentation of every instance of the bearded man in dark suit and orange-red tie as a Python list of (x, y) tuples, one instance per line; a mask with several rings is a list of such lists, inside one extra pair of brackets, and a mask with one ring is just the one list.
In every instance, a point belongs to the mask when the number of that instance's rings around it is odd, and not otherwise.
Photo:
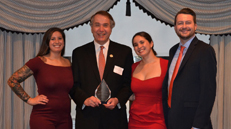
[(163, 82), (166, 125), (168, 129), (212, 129), (210, 114), (217, 72), (214, 49), (195, 36), (197, 24), (193, 10), (179, 11), (174, 28), (180, 43), (170, 49)]

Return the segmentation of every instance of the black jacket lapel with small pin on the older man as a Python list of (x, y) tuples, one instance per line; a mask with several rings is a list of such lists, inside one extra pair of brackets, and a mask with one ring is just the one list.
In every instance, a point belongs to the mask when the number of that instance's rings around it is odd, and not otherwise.
[(104, 74), (103, 74), (103, 78), (106, 79), (107, 74), (109, 72), (112, 72), (111, 70), (113, 70), (114, 67), (114, 59), (116, 58), (116, 45), (110, 41), (109, 43), (109, 47), (108, 47), (108, 52), (107, 52), (107, 61), (106, 61), (106, 65), (105, 65), (105, 69), (104, 69)]

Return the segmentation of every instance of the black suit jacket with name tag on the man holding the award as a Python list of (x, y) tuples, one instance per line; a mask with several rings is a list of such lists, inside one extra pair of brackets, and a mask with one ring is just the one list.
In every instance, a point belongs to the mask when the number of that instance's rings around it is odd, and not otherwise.
[[(95, 46), (93, 42), (76, 48), (72, 54), (72, 69), (74, 86), (70, 95), (76, 107), (76, 128), (78, 129), (127, 129), (126, 106), (131, 95), (131, 65), (133, 56), (131, 48), (110, 41), (103, 78), (111, 90), (111, 97), (117, 97), (121, 109), (116, 106), (113, 110), (99, 107), (85, 107), (84, 101), (94, 96), (95, 89), (100, 84)], [(124, 68), (123, 74), (113, 72), (115, 66)]]

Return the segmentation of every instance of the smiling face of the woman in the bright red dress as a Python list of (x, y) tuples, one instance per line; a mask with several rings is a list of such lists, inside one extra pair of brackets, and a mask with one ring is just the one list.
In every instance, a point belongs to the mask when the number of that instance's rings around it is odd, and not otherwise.
[(137, 35), (133, 39), (133, 47), (136, 54), (143, 58), (152, 51), (153, 42), (150, 43), (144, 37)]

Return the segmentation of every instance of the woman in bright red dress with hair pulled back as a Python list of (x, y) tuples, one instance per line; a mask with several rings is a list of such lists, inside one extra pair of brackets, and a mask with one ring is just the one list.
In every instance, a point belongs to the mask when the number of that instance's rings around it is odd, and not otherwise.
[(162, 82), (168, 61), (156, 57), (151, 36), (138, 32), (132, 38), (136, 54), (141, 61), (132, 65), (131, 89), (135, 95), (130, 108), (129, 129), (166, 129)]

